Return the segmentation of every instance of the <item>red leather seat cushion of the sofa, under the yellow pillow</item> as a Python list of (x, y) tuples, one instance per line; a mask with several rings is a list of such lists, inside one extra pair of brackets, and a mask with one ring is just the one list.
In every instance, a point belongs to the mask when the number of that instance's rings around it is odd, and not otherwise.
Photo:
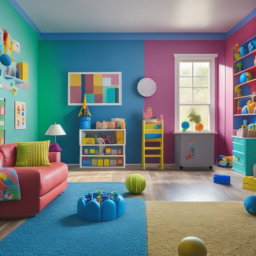
[(14, 167), (17, 172), (21, 199), (38, 198), (65, 181), (68, 167), (64, 163), (51, 166)]

